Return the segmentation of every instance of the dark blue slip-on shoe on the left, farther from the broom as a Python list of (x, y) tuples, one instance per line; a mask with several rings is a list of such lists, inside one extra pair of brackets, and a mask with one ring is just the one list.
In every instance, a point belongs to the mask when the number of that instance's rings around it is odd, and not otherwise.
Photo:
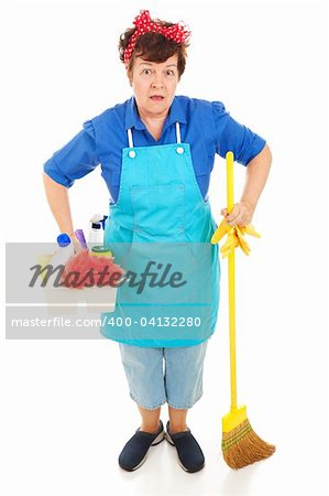
[(162, 421), (160, 421), (158, 431), (154, 434), (138, 429), (121, 451), (119, 465), (128, 472), (140, 468), (147, 457), (149, 449), (161, 443), (164, 438), (165, 433)]

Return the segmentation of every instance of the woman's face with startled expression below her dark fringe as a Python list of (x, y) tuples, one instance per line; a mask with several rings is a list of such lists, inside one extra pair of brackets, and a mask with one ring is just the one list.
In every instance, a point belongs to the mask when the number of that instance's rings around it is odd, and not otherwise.
[(128, 73), (128, 77), (143, 117), (167, 115), (179, 80), (177, 61), (177, 54), (161, 64), (141, 57), (134, 60), (132, 72)]

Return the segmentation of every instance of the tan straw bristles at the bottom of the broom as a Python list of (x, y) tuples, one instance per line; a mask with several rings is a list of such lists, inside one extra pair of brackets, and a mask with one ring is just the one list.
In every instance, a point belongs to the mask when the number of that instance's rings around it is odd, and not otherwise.
[(223, 459), (231, 468), (242, 468), (275, 452), (275, 446), (263, 441), (248, 419), (232, 431), (223, 432), (221, 448)]

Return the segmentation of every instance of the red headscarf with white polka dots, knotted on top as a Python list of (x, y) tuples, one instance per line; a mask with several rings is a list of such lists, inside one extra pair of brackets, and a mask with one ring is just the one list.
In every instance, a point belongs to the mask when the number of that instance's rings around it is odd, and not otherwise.
[(133, 21), (136, 26), (135, 32), (129, 40), (128, 46), (124, 50), (124, 63), (128, 64), (132, 52), (134, 51), (136, 39), (145, 33), (161, 33), (168, 40), (174, 40), (176, 43), (187, 42), (190, 37), (190, 31), (186, 29), (183, 21), (173, 24), (169, 28), (165, 28), (152, 21), (149, 10), (141, 10), (141, 13), (135, 17)]

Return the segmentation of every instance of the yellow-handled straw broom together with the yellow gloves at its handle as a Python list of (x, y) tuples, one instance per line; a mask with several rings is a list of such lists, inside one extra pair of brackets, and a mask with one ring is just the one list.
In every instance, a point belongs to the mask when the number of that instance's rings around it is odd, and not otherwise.
[[(233, 153), (228, 152), (227, 159), (227, 196), (228, 213), (234, 205), (233, 190)], [(234, 249), (240, 246), (244, 254), (250, 249), (243, 239), (244, 234), (260, 237), (252, 225), (230, 226), (226, 219), (218, 226), (211, 238), (211, 242), (218, 242), (224, 234), (228, 239), (221, 248), (223, 257), (228, 256), (229, 267), (229, 327), (230, 327), (230, 369), (231, 369), (231, 410), (222, 418), (222, 442), (223, 459), (231, 468), (242, 468), (260, 460), (267, 459), (275, 452), (275, 446), (263, 441), (253, 431), (248, 418), (246, 407), (237, 406), (237, 369), (235, 369), (235, 259)]]

